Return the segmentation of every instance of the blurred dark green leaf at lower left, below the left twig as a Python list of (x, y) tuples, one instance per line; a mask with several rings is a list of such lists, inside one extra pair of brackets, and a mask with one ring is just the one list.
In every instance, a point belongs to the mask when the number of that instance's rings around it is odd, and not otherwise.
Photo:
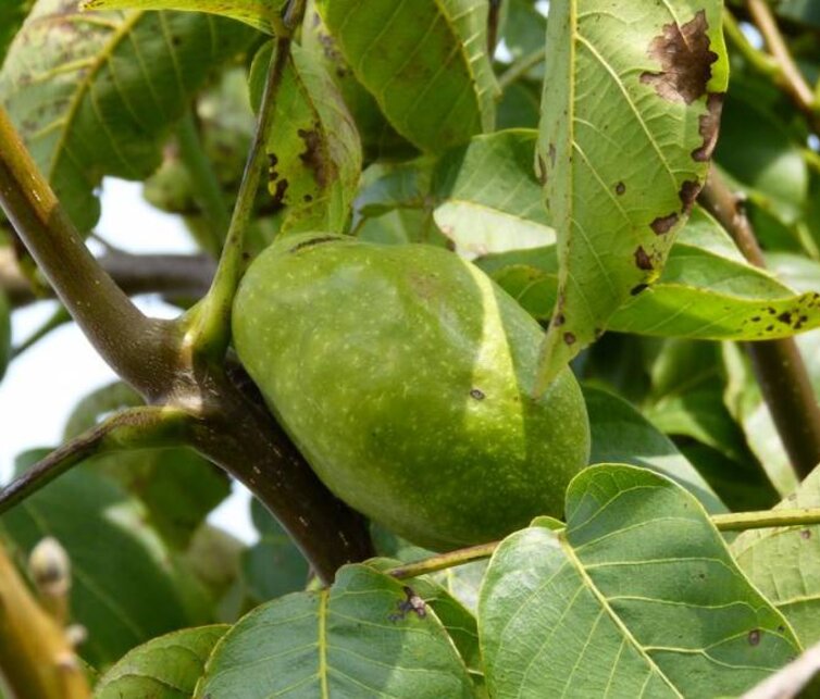
[(145, 519), (145, 508), (116, 485), (75, 469), (0, 520), (23, 554), (47, 536), (69, 552), (71, 610), (88, 631), (80, 652), (98, 667), (154, 636), (209, 621), (189, 607), (188, 581)]

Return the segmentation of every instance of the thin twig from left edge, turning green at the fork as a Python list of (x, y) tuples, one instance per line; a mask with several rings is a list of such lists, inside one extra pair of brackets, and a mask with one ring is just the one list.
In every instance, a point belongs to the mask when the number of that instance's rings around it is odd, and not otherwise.
[(52, 451), (0, 490), (0, 514), (89, 457), (140, 447), (183, 444), (187, 416), (170, 408), (133, 408), (109, 417)]

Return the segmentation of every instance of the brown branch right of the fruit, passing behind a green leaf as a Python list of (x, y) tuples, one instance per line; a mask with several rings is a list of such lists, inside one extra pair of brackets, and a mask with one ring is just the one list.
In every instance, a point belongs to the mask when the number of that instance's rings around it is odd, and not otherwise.
[[(712, 167), (700, 202), (732, 236), (754, 265), (766, 260), (738, 198)], [(820, 463), (820, 408), (806, 364), (793, 338), (745, 342), (760, 390), (797, 476)]]

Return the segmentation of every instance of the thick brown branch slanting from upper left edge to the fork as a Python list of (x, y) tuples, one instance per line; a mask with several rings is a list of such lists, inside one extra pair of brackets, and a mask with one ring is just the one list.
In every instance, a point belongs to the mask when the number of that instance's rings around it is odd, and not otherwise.
[(171, 326), (142, 315), (100, 267), (0, 108), (0, 207), (100, 355), (144, 395), (161, 396)]

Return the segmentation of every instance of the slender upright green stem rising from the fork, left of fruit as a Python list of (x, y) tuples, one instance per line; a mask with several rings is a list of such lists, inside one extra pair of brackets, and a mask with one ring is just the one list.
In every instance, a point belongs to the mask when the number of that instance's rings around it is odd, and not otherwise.
[(262, 166), (266, 158), (265, 145), (273, 122), (276, 95), (289, 58), (290, 38), (287, 36), (278, 37), (271, 55), (253, 142), (248, 153), (227, 238), (222, 248), (222, 258), (216, 267), (211, 289), (196, 310), (194, 326), (189, 336), (194, 351), (199, 357), (215, 362), (219, 362), (225, 355), (231, 341), (231, 308), (243, 273), (245, 232), (253, 212), (253, 202), (259, 190)]

